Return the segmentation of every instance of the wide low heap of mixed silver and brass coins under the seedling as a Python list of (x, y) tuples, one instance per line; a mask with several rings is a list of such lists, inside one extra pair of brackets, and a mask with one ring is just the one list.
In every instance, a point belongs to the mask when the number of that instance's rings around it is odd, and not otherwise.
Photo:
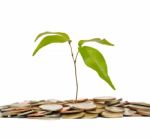
[(1, 118), (91, 119), (150, 116), (150, 103), (105, 96), (93, 99), (25, 101), (0, 106)]

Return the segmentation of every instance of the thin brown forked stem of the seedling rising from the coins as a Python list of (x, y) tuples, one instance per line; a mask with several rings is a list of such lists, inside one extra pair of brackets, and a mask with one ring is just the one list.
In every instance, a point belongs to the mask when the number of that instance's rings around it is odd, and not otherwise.
[(79, 52), (77, 52), (76, 56), (74, 57), (72, 46), (71, 46), (71, 41), (69, 41), (69, 46), (70, 46), (71, 56), (72, 56), (72, 60), (73, 60), (73, 64), (74, 64), (75, 79), (76, 79), (76, 97), (75, 97), (75, 101), (77, 101), (77, 99), (78, 99), (78, 78), (77, 78), (77, 66), (76, 66), (76, 62), (77, 62), (77, 56), (78, 56)]

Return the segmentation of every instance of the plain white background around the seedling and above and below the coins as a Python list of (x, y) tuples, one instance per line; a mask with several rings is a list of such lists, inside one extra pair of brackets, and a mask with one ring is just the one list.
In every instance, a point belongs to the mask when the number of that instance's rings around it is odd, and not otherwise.
[[(75, 79), (68, 44), (41, 49), (36, 35), (62, 31), (76, 52), (80, 39), (106, 38), (99, 49), (113, 91), (78, 57), (79, 98), (115, 96), (150, 102), (149, 0), (0, 0), (0, 105), (24, 100), (73, 99)], [(0, 138), (148, 138), (149, 118), (39, 121), (0, 119)]]

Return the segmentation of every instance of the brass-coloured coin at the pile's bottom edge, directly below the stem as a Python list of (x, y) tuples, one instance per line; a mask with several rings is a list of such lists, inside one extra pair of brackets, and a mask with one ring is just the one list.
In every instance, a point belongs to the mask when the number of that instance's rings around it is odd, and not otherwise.
[(76, 114), (63, 114), (62, 118), (63, 119), (78, 119), (78, 118), (82, 118), (84, 115), (85, 115), (84, 112), (76, 113)]

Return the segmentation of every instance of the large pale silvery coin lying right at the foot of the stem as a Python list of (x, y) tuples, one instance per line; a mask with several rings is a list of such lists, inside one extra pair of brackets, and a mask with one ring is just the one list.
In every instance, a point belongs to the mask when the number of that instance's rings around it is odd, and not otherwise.
[(75, 104), (72, 104), (71, 106), (77, 109), (82, 109), (82, 110), (96, 109), (96, 105), (92, 102), (75, 103)]

